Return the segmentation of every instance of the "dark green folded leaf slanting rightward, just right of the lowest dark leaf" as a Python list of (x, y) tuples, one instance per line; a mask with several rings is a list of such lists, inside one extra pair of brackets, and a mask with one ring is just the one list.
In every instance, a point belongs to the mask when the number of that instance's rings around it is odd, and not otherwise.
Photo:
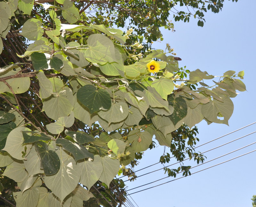
[(57, 139), (56, 144), (61, 144), (65, 150), (71, 152), (76, 161), (88, 157), (93, 159), (93, 154), (86, 150), (83, 145), (78, 145), (63, 138)]

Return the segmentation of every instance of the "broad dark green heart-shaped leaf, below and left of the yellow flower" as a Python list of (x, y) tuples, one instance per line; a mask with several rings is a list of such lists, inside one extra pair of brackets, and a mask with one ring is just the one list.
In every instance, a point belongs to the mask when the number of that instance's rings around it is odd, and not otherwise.
[(85, 85), (78, 89), (76, 97), (89, 109), (91, 114), (100, 109), (108, 110), (111, 107), (108, 92), (104, 89), (97, 89), (92, 85)]

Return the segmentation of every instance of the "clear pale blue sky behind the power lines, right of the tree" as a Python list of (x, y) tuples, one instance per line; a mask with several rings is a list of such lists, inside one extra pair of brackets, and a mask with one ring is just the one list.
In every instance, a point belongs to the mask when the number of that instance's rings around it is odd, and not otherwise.
[[(245, 72), (243, 81), (246, 84), (247, 91), (241, 92), (232, 99), (235, 109), (229, 119), (229, 126), (214, 123), (207, 125), (205, 121), (201, 122), (197, 125), (199, 129), (198, 138), (200, 139), (198, 145), (256, 121), (254, 80), (256, 29), (255, 18), (253, 17), (255, 7), (255, 0), (239, 0), (237, 3), (225, 1), (224, 8), (220, 13), (206, 13), (204, 27), (198, 27), (197, 21), (193, 18), (189, 23), (173, 22), (176, 32), (172, 33), (163, 29), (164, 41), (153, 43), (153, 47), (156, 49), (165, 49), (166, 43), (169, 43), (175, 49), (174, 52), (177, 53), (177, 57), (182, 58), (182, 61), (179, 62), (180, 67), (186, 65), (190, 71), (199, 68), (212, 75), (222, 75), (228, 70), (234, 70), (237, 73), (241, 70)], [(256, 124), (206, 144), (197, 150), (204, 152), (253, 131), (256, 131)], [(205, 161), (255, 141), (256, 133), (205, 153), (207, 157)], [(192, 169), (191, 173), (255, 149), (256, 144), (198, 166)], [(163, 148), (161, 147), (147, 150), (140, 161), (140, 165), (135, 170), (158, 162), (162, 154)], [(132, 198), (139, 207), (251, 207), (252, 195), (256, 194), (255, 158), (256, 152), (253, 152), (186, 178), (133, 194)], [(174, 162), (175, 160), (171, 160), (170, 164)], [(191, 160), (185, 162), (184, 165), (195, 166), (196, 163)], [(137, 175), (161, 167), (161, 164), (154, 165), (138, 172)], [(163, 177), (166, 177), (164, 172), (157, 171), (142, 176), (134, 182), (128, 181), (126, 182), (127, 190)], [(167, 178), (128, 192), (136, 192), (172, 179)]]

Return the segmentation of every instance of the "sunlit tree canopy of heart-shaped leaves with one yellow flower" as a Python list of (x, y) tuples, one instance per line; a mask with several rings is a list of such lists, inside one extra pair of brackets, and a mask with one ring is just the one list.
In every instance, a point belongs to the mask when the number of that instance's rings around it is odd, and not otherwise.
[[(151, 41), (162, 38), (160, 27), (174, 29), (168, 17), (178, 3), (188, 11), (175, 12), (175, 21), (194, 15), (203, 26), (204, 12), (223, 2), (1, 1), (4, 205), (121, 206), (126, 192), (115, 176), (134, 179), (132, 167), (156, 144), (180, 162), (203, 162), (194, 126), (228, 125), (244, 72), (190, 72), (169, 45), (156, 50)], [(126, 32), (112, 28), (126, 24)]]

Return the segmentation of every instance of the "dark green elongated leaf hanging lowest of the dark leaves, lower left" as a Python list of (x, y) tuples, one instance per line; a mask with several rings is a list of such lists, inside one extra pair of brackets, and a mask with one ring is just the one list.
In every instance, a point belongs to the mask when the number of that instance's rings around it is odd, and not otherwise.
[(48, 150), (48, 146), (42, 142), (36, 142), (36, 151), (41, 158), (41, 167), (44, 169), (45, 175), (54, 175), (60, 169), (60, 158), (52, 151)]

